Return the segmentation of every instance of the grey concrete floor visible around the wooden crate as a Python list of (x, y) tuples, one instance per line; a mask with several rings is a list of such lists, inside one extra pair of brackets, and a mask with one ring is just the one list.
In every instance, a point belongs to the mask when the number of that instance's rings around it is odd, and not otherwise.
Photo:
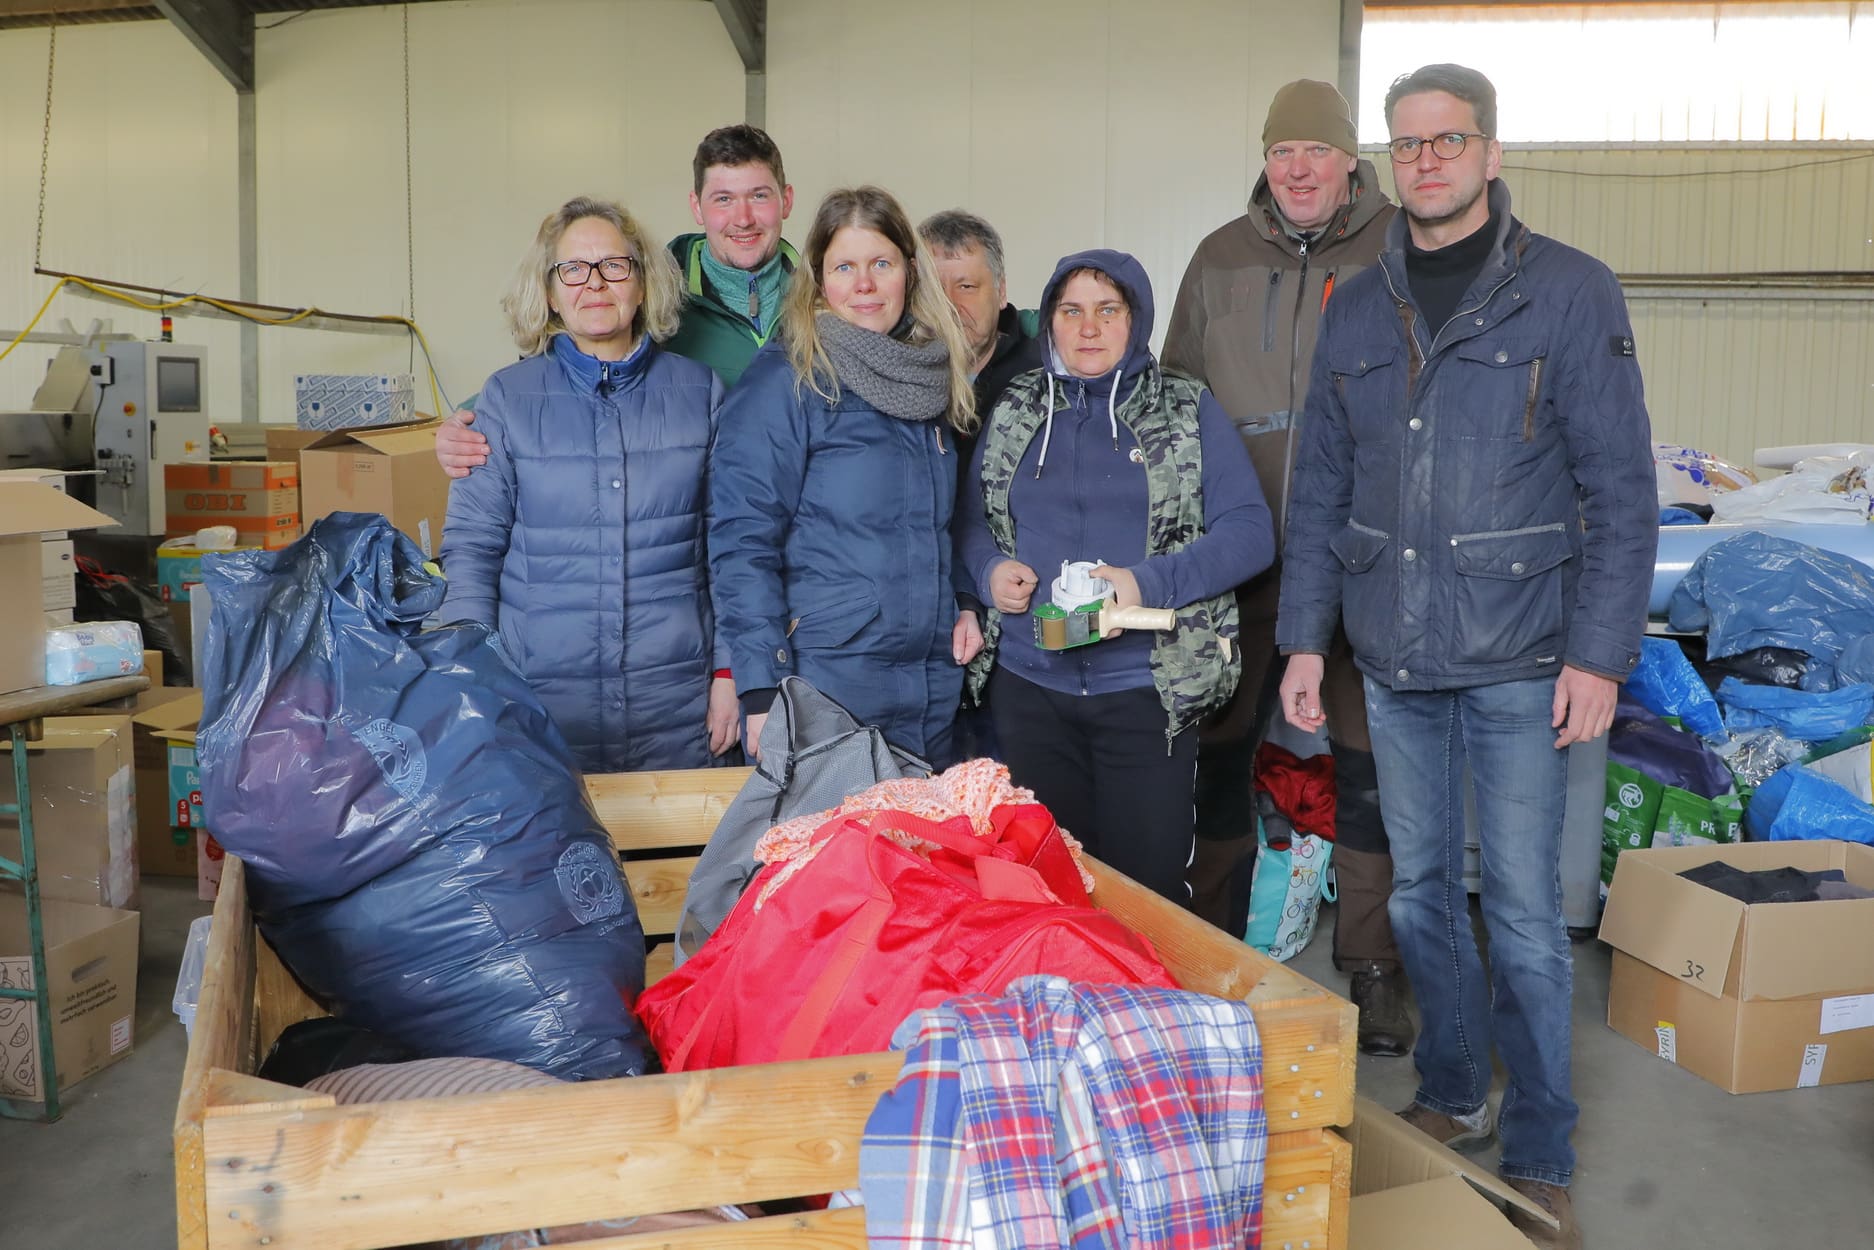
[[(171, 1014), (195, 885), (144, 881), (137, 1049), (67, 1094), (56, 1124), (0, 1121), (0, 1241), (39, 1250), (176, 1244), (169, 1126), (182, 1076)], [(1336, 991), (1327, 928), (1297, 967)], [(1576, 948), (1576, 1211), (1587, 1244), (1756, 1250), (1865, 1246), (1874, 1192), (1874, 1083), (1733, 1096), (1606, 1027), (1608, 948)], [(1361, 1059), (1361, 1093), (1411, 1100), (1411, 1059)]]

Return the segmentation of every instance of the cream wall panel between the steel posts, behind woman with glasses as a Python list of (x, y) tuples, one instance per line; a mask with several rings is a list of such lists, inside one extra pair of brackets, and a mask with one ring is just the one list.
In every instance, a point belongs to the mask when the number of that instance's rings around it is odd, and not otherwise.
[[(513, 360), (498, 298), (555, 206), (603, 195), (660, 242), (693, 229), (690, 156), (742, 118), (742, 64), (697, 0), (468, 0), (409, 17), (416, 320), (459, 401)], [(309, 13), (260, 32), (255, 58), (260, 298), (403, 313), (401, 11)], [(292, 418), (296, 373), (409, 360), (403, 337), (262, 332), (262, 412)]]

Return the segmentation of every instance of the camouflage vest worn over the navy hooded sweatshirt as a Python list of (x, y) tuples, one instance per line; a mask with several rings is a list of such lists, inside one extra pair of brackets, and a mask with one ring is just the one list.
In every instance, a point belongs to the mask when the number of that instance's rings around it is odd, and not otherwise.
[[(1156, 364), (1119, 405), (1119, 422), (1132, 431), (1145, 454), (1145, 484), (1151, 493), (1145, 553), (1181, 551), (1203, 534), (1203, 444), (1197, 437), (1197, 395), (1203, 386), (1182, 373), (1162, 371)], [(995, 405), (982, 431), (982, 499), (989, 534), (1003, 551), (1016, 549), (1016, 523), (1008, 513), (1014, 487), (1029, 442), (1048, 418), (1048, 375), (1023, 373)], [(1042, 577), (1046, 594), (1051, 577)], [(995, 648), (1003, 637), (1003, 613), (988, 609), (982, 652), (969, 665), (969, 693), (982, 699), (982, 688), (995, 667)], [(1169, 714), (1169, 737), (1229, 701), (1242, 673), (1237, 652), (1237, 596), (1218, 594), (1177, 611), (1177, 630), (1158, 633), (1153, 647), (1153, 684)]]

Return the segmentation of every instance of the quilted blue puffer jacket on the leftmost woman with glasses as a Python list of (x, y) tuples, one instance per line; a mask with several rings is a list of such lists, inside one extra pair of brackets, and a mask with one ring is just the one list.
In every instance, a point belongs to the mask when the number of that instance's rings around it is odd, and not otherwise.
[(482, 390), (487, 465), (450, 487), (442, 618), (500, 632), (587, 772), (710, 763), (720, 403), (716, 375), (648, 337), (607, 364), (555, 335)]

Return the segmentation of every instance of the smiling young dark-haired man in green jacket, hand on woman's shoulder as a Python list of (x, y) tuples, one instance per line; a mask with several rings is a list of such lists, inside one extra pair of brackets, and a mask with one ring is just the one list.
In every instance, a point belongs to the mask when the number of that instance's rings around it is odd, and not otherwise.
[[(781, 238), (795, 189), (781, 150), (755, 126), (712, 129), (697, 144), (692, 171), (690, 216), (703, 231), (671, 240), (684, 307), (663, 349), (735, 386), (774, 334), (795, 272), (795, 249)], [(452, 478), (487, 463), (487, 440), (472, 424), (474, 412), (457, 409), (437, 427), (437, 459)]]

